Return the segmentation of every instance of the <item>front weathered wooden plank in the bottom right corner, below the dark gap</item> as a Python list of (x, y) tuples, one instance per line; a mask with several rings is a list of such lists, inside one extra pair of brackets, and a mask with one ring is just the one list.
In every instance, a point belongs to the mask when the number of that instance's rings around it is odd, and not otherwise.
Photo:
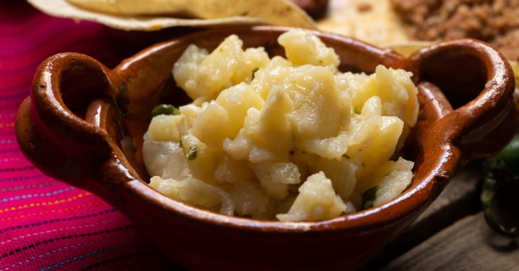
[(480, 212), (459, 220), (381, 270), (519, 270), (518, 241), (491, 230)]

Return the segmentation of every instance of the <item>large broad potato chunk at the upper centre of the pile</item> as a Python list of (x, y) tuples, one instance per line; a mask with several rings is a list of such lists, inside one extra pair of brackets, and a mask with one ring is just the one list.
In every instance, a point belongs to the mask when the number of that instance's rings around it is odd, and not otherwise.
[[(279, 58), (278, 58), (279, 59)], [(265, 97), (265, 91), (283, 85), (293, 101), (291, 122), (296, 138), (304, 140), (335, 137), (341, 125), (349, 123), (350, 97), (335, 85), (332, 66), (278, 66), (259, 70), (252, 86)], [(256, 82), (263, 83), (257, 86)]]

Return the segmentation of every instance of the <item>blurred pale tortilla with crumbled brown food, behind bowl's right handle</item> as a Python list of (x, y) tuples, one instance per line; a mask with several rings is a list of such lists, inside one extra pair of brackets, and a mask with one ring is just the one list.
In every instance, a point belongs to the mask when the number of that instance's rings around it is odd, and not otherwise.
[(330, 0), (318, 27), (375, 44), (476, 38), (517, 61), (518, 8), (519, 0)]

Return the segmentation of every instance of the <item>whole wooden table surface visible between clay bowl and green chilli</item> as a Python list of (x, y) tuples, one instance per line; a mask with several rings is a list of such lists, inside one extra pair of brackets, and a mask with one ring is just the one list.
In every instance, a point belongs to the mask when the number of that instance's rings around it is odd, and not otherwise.
[(519, 238), (495, 233), (481, 212), (482, 176), (480, 162), (466, 165), (426, 212), (363, 269), (519, 270)]

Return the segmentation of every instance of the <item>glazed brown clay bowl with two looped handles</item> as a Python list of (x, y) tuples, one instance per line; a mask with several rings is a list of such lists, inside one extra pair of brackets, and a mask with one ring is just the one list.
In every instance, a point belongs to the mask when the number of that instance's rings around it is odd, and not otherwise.
[(357, 40), (318, 33), (343, 71), (377, 64), (412, 71), (420, 111), (405, 146), (414, 178), (398, 198), (321, 222), (227, 217), (171, 200), (147, 186), (142, 136), (159, 103), (188, 100), (171, 76), (190, 43), (209, 50), (237, 34), (244, 47), (283, 54), (288, 28), (197, 32), (162, 42), (110, 70), (91, 57), (62, 53), (37, 69), (16, 129), (38, 169), (99, 195), (138, 224), (158, 248), (189, 269), (355, 269), (401, 233), (440, 194), (464, 162), (504, 147), (519, 125), (514, 76), (503, 56), (472, 39), (438, 43), (405, 58)]

